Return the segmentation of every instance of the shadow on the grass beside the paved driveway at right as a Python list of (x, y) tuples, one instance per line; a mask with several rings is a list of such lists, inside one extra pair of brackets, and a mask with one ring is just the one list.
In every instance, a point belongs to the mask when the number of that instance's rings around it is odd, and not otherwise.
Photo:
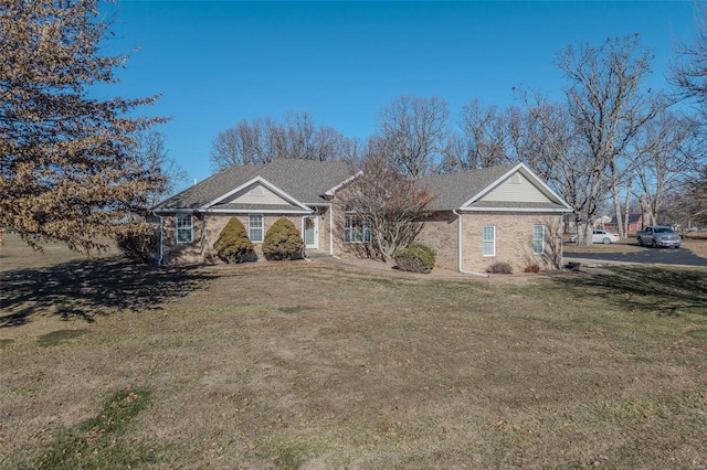
[(604, 273), (558, 278), (570, 296), (601, 298), (661, 316), (707, 316), (707, 270), (613, 266)]

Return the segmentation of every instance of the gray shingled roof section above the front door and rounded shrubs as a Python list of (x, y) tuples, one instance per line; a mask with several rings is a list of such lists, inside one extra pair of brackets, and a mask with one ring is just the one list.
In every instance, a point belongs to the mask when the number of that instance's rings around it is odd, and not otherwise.
[(230, 167), (160, 202), (155, 210), (198, 209), (261, 177), (304, 204), (325, 202), (323, 194), (351, 175), (344, 162), (279, 159), (258, 165)]

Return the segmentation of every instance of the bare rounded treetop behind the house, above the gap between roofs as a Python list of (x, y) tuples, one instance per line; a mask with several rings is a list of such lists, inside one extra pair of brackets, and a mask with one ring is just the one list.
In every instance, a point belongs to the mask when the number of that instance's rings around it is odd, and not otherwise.
[(397, 171), (418, 179), (442, 159), (449, 105), (436, 97), (400, 96), (379, 113), (377, 140)]

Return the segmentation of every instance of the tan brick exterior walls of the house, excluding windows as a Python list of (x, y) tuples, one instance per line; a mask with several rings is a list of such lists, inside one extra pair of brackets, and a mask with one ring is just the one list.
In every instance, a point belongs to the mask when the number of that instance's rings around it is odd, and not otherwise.
[[(334, 221), (334, 254), (337, 256), (370, 257), (371, 250), (366, 244), (345, 244), (344, 211), (340, 207), (321, 207), (318, 216), (319, 248), (308, 249), (309, 254), (330, 253), (329, 222), (331, 211)], [(218, 263), (213, 244), (219, 234), (235, 216), (247, 229), (247, 214), (197, 214), (193, 215), (193, 242), (177, 243), (176, 216), (163, 216), (163, 258), (165, 263)], [(302, 232), (303, 215), (263, 214), (263, 236), (279, 217), (288, 218)], [(457, 229), (458, 218), (451, 211), (432, 214), (418, 237), (419, 242), (432, 246), (437, 252), (436, 266), (457, 270)], [(495, 256), (483, 256), (483, 227), (496, 229)], [(532, 233), (535, 225), (544, 225), (545, 254), (532, 253)], [(462, 269), (484, 273), (494, 263), (508, 263), (515, 273), (521, 273), (530, 265), (542, 270), (557, 269), (561, 265), (562, 216), (542, 213), (492, 213), (474, 212), (462, 215)], [(255, 243), (255, 253), (263, 257), (262, 244)]]

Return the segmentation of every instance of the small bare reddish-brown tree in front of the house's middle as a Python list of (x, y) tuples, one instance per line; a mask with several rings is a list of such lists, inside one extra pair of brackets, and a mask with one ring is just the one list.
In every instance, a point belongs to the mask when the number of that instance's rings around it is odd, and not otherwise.
[(422, 229), (432, 195), (392, 167), (374, 139), (361, 160), (361, 174), (341, 192), (348, 214), (371, 229), (374, 254), (390, 263)]

